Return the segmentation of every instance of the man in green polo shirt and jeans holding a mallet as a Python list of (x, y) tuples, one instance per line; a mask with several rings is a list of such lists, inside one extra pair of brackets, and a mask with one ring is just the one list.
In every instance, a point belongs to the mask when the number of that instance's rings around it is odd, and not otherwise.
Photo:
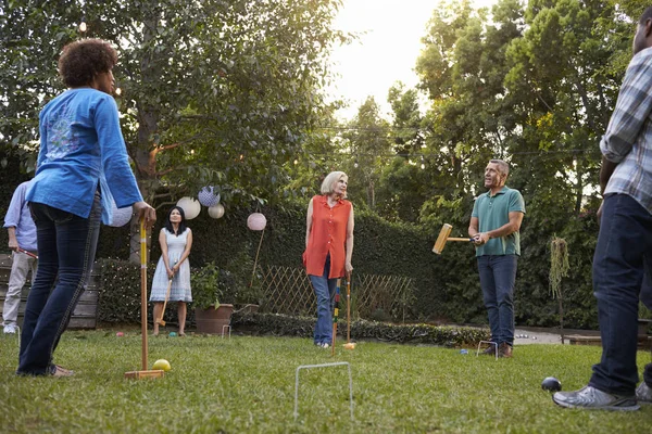
[(514, 282), (521, 256), (521, 222), (525, 203), (505, 186), (510, 166), (491, 159), (485, 169), (487, 193), (473, 206), (468, 235), (474, 239), (482, 298), (489, 316), (491, 342), (484, 354), (512, 357), (514, 345)]

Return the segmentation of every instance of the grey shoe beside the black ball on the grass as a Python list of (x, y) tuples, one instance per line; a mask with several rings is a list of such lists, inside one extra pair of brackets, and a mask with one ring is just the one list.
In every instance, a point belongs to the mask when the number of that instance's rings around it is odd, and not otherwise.
[(557, 392), (552, 395), (552, 400), (562, 407), (587, 410), (635, 411), (640, 408), (636, 404), (636, 396), (634, 395), (612, 395), (592, 386), (585, 386), (575, 392)]

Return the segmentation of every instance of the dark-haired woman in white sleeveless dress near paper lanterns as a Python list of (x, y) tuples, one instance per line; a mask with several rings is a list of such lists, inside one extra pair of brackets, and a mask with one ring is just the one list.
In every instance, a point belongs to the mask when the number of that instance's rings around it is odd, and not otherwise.
[(167, 284), (172, 281), (168, 303), (177, 303), (179, 317), (179, 336), (185, 336), (186, 303), (192, 302), (190, 292), (190, 263), (188, 255), (192, 247), (192, 231), (186, 227), (184, 209), (175, 206), (167, 215), (165, 227), (159, 233), (161, 258), (152, 281), (150, 302), (154, 304), (154, 335), (159, 335), (156, 319), (163, 312), (163, 302), (167, 294)]

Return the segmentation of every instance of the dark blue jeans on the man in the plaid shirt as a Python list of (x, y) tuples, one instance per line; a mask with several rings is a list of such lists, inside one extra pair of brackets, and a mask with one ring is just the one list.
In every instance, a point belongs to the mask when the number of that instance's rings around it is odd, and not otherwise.
[(634, 395), (638, 383), (638, 307), (645, 264), (652, 264), (652, 214), (626, 194), (606, 196), (593, 256), (602, 358), (589, 382), (606, 393)]

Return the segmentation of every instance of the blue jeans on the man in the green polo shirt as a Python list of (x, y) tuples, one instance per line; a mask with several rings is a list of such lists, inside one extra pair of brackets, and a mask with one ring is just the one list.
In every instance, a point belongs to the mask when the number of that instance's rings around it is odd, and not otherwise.
[(514, 344), (514, 283), (517, 255), (478, 256), (482, 298), (489, 316), (491, 342)]

